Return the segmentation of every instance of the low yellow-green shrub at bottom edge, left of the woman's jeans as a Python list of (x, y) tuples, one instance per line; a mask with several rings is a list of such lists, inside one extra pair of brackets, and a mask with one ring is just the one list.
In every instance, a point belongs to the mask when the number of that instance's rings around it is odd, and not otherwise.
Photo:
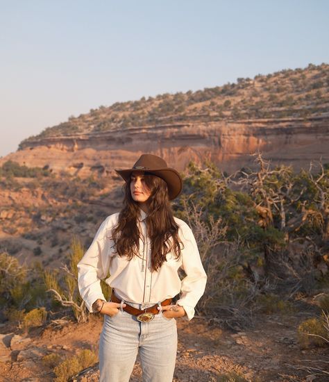
[(93, 351), (84, 349), (78, 355), (68, 358), (53, 369), (56, 374), (54, 381), (67, 382), (67, 380), (81, 372), (81, 370), (94, 365), (97, 362), (97, 356)]

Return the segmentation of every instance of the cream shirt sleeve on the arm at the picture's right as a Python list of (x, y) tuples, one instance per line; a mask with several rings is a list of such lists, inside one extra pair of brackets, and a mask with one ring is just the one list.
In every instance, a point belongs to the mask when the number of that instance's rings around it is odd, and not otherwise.
[(201, 263), (199, 249), (192, 230), (185, 224), (182, 227), (181, 237), (184, 249), (182, 250), (182, 268), (185, 278), (182, 280), (180, 299), (176, 304), (183, 306), (188, 321), (194, 317), (195, 306), (205, 291), (207, 275)]

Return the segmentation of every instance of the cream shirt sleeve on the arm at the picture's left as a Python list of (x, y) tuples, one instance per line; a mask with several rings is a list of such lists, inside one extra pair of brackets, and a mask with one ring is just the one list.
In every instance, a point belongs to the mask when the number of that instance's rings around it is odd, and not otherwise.
[(108, 275), (110, 266), (110, 240), (106, 237), (108, 231), (107, 217), (87, 249), (83, 258), (78, 262), (78, 289), (90, 313), (94, 313), (92, 304), (96, 299), (106, 300), (101, 290), (101, 279)]

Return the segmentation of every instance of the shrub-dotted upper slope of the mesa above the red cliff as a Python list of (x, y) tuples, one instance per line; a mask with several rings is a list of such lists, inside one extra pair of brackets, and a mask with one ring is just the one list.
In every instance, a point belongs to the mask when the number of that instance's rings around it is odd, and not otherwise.
[(305, 69), (283, 69), (258, 74), (253, 79), (237, 78), (214, 88), (192, 92), (158, 94), (138, 101), (100, 106), (90, 113), (71, 116), (67, 122), (47, 127), (39, 135), (22, 141), (81, 133), (101, 133), (138, 126), (187, 122), (238, 121), (245, 119), (310, 118), (329, 111), (329, 65)]

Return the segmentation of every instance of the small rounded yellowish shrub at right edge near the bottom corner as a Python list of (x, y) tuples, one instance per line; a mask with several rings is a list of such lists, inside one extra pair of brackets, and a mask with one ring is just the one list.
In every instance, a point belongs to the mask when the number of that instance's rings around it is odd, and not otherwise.
[(328, 346), (329, 316), (323, 312), (320, 317), (306, 319), (298, 326), (297, 335), (303, 348)]

